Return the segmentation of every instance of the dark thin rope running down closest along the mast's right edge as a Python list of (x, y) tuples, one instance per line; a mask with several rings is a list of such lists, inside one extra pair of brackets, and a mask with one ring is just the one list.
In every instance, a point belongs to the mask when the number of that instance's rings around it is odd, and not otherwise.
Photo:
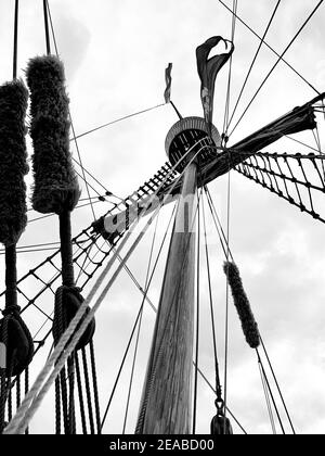
[(197, 253), (196, 253), (196, 324), (195, 324), (195, 369), (194, 369), (194, 398), (193, 398), (193, 422), (192, 433), (196, 431), (196, 409), (197, 409), (197, 366), (198, 366), (198, 344), (199, 344), (199, 259), (200, 259), (200, 200), (203, 189), (198, 198), (197, 205)]

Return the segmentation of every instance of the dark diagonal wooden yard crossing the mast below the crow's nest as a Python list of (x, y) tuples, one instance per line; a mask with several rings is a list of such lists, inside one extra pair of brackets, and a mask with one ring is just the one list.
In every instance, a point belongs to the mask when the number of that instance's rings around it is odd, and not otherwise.
[[(324, 98), (325, 93), (322, 93), (302, 106), (295, 107), (289, 113), (268, 124), (233, 147), (220, 148), (221, 152), (217, 153), (214, 157), (208, 162), (200, 163), (200, 173), (198, 173), (197, 181), (198, 188), (224, 175), (249, 156), (274, 143), (282, 137), (315, 128), (314, 104), (324, 100)], [(169, 163), (166, 163), (165, 166), (167, 166), (168, 170), (172, 169)], [(164, 174), (165, 178), (167, 173), (165, 172)], [(158, 185), (161, 185), (164, 180), (162, 176), (158, 179), (158, 182), (156, 179), (156, 186), (154, 188), (146, 186), (147, 191), (144, 194), (140, 195), (139, 190), (132, 193), (132, 195), (121, 202), (120, 211), (116, 211), (115, 214), (108, 213), (106, 216), (96, 220), (93, 224), (94, 230), (109, 241), (113, 241), (116, 236), (120, 236), (127, 231), (135, 219), (150, 214), (161, 203), (168, 204), (174, 201), (180, 193), (182, 178), (179, 178), (180, 176), (177, 176), (177, 173), (172, 173), (170, 177), (169, 181), (158, 191)], [(179, 181), (176, 182), (178, 178)], [(144, 186), (140, 187), (140, 189)]]

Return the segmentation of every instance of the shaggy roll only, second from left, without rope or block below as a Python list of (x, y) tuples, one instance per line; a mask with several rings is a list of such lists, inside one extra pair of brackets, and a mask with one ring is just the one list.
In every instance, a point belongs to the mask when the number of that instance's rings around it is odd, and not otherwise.
[(32, 207), (44, 214), (73, 211), (80, 188), (69, 152), (69, 100), (63, 63), (54, 55), (31, 59), (27, 84), (34, 145)]

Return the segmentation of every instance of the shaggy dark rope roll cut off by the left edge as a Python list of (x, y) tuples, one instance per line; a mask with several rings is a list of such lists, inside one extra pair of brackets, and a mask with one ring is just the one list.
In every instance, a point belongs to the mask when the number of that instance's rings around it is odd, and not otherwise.
[(25, 115), (28, 91), (16, 79), (0, 86), (0, 242), (15, 244), (27, 223)]

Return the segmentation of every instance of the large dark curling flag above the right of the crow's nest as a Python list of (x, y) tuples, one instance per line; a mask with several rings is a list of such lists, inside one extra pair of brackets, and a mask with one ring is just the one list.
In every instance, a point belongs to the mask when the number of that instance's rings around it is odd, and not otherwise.
[[(230, 49), (222, 54), (208, 59), (211, 49), (220, 41), (224, 42), (226, 49), (227, 45), (230, 45)], [(232, 41), (223, 39), (220, 36), (211, 37), (196, 48), (197, 72), (200, 78), (200, 98), (209, 131), (211, 131), (212, 124), (216, 77), (234, 52), (234, 49), (235, 47)]]

